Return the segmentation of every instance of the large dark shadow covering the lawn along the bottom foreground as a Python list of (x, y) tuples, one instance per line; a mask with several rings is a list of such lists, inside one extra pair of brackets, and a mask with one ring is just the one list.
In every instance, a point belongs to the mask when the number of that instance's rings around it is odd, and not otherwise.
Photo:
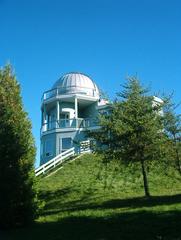
[(110, 217), (68, 217), (36, 223), (8, 233), (2, 240), (180, 240), (181, 214), (138, 212)]

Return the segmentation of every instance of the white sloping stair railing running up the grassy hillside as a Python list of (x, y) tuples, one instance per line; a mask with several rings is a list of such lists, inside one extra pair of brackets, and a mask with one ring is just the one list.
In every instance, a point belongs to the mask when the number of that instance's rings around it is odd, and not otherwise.
[(75, 148), (70, 148), (65, 152), (60, 153), (55, 158), (35, 169), (35, 175), (39, 176), (45, 174), (48, 170), (55, 168), (57, 165), (63, 163), (66, 159), (75, 155)]

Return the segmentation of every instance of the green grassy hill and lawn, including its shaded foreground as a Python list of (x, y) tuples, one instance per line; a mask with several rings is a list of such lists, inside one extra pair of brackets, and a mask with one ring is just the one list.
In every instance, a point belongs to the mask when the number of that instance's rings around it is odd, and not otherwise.
[(7, 240), (180, 240), (180, 180), (173, 169), (154, 162), (149, 166), (152, 197), (146, 199), (139, 165), (105, 167), (101, 156), (84, 155), (41, 179), (45, 209), (35, 224), (2, 236)]

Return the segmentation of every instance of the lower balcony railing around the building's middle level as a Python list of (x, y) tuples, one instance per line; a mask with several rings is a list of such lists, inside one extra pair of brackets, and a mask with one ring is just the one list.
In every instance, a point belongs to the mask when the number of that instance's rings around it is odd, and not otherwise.
[(89, 129), (92, 127), (99, 127), (99, 120), (95, 118), (72, 118), (72, 119), (60, 119), (59, 121), (53, 121), (43, 124), (41, 128), (41, 134), (47, 131), (55, 129)]

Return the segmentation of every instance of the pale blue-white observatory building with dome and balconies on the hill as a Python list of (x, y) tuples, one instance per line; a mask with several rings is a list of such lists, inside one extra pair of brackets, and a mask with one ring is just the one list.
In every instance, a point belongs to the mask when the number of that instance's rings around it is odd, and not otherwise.
[(99, 128), (98, 114), (108, 111), (95, 82), (85, 74), (71, 72), (44, 92), (41, 112), (40, 164), (71, 147), (78, 152), (86, 132)]

